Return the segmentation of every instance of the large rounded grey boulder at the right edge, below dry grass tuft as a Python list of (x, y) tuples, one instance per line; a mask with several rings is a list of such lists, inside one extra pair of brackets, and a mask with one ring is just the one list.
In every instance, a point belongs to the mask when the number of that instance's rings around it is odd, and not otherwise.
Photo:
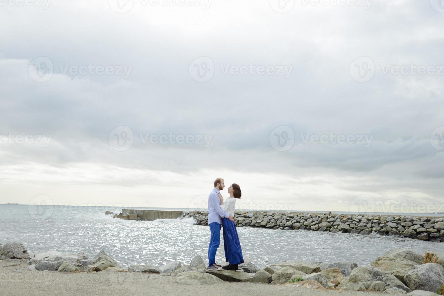
[(444, 283), (444, 268), (436, 263), (415, 265), (404, 281), (412, 290), (436, 292)]

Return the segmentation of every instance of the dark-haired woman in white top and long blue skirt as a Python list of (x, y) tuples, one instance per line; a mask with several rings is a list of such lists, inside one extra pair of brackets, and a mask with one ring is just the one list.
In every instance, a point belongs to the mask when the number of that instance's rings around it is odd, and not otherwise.
[[(221, 204), (223, 204), (223, 210), (231, 214), (234, 217), (234, 208), (236, 207), (236, 199), (240, 199), (242, 192), (241, 187), (238, 184), (231, 184), (228, 187), (228, 193), (230, 197), (223, 201), (222, 195), (219, 195)], [(242, 248), (239, 242), (238, 231), (233, 221), (227, 218), (222, 219), (223, 227), (223, 244), (225, 249), (225, 260), (230, 264), (223, 266), (226, 270), (238, 270), (238, 265), (244, 263), (242, 257)]]

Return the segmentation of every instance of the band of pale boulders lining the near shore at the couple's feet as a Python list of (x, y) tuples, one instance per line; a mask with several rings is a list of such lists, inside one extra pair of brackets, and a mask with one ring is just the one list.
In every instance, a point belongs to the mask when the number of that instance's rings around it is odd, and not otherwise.
[(225, 282), (290, 285), (321, 291), (385, 291), (411, 296), (444, 295), (444, 253), (425, 252), (424, 256), (408, 249), (392, 249), (370, 265), (354, 262), (284, 261), (259, 269), (245, 258), (238, 271), (206, 271), (206, 263), (196, 255), (189, 264), (173, 261), (162, 266), (120, 266), (100, 251), (89, 259), (84, 253), (55, 250), (29, 254), (23, 244), (0, 245), (0, 268), (26, 265), (30, 271), (57, 273), (120, 272), (166, 276), (179, 284), (202, 285)]

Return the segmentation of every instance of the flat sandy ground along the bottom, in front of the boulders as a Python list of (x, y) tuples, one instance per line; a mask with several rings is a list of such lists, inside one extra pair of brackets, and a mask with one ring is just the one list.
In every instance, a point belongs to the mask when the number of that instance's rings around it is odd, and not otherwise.
[(325, 291), (292, 284), (233, 283), (187, 285), (175, 277), (147, 273), (93, 272), (59, 273), (27, 270), (29, 265), (0, 267), (3, 295), (389, 295), (386, 292)]

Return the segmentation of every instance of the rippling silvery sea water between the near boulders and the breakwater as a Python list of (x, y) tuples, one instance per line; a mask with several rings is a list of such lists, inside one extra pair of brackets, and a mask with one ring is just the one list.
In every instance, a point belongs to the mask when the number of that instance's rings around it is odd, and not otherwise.
[[(103, 207), (54, 206), (44, 212), (36, 206), (0, 205), (0, 243), (22, 242), (28, 252), (56, 249), (84, 252), (93, 257), (105, 250), (121, 265), (169, 261), (188, 264), (194, 255), (208, 260), (210, 229), (192, 219), (129, 221), (104, 215)], [(108, 209), (116, 211), (116, 208)], [(441, 251), (444, 244), (378, 235), (269, 230), (239, 227), (244, 257), (256, 265), (284, 260), (340, 261), (368, 264), (393, 248), (424, 253)], [(216, 261), (225, 262), (223, 239)]]

